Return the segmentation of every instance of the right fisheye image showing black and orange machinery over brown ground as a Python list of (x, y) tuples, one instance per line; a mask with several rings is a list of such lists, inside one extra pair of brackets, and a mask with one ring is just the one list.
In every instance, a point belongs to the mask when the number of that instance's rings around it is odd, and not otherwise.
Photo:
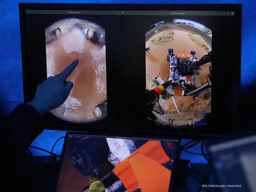
[(212, 31), (174, 19), (146, 32), (147, 116), (178, 129), (201, 127), (211, 115)]

